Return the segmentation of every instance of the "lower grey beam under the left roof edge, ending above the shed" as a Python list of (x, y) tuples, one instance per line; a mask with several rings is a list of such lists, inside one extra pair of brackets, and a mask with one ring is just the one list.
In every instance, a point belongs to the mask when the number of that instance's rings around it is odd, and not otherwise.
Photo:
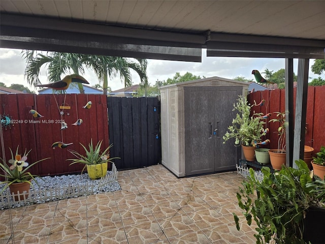
[(202, 55), (199, 48), (116, 44), (95, 41), (85, 42), (62, 40), (59, 37), (56, 39), (45, 39), (0, 36), (0, 47), (189, 62), (201, 62)]

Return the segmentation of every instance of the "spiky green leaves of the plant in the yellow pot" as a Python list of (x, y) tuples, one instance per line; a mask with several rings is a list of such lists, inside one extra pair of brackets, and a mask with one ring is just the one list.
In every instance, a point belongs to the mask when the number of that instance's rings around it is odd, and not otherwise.
[(83, 167), (81, 173), (85, 170), (87, 165), (94, 165), (94, 164), (103, 164), (106, 162), (113, 163), (113, 159), (119, 159), (119, 158), (110, 158), (109, 150), (113, 146), (113, 144), (109, 145), (104, 151), (101, 151), (103, 140), (99, 141), (95, 146), (92, 144), (92, 139), (90, 143), (88, 144), (88, 148), (84, 146), (83, 144), (79, 143), (83, 149), (85, 150), (85, 155), (79, 154), (75, 150), (69, 150), (70, 153), (76, 157), (76, 159), (67, 159), (68, 161), (73, 161), (70, 165), (73, 164), (85, 164)]

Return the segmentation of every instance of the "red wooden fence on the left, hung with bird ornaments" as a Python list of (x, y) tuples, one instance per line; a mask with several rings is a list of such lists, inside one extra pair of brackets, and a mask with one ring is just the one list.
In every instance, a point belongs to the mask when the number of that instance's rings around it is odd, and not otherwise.
[[(88, 101), (92, 102), (92, 106), (90, 109), (84, 109), (83, 106)], [(68, 128), (61, 131), (62, 109), (59, 107), (63, 105), (70, 106), (70, 109), (63, 109), (62, 119), (68, 124)], [(102, 149), (109, 146), (105, 95), (1, 94), (0, 106), (0, 114), (9, 114), (14, 123), (10, 128), (3, 128), (7, 162), (11, 157), (9, 147), (14, 151), (17, 145), (21, 153), (25, 148), (32, 149), (27, 158), (29, 164), (43, 158), (51, 158), (32, 167), (30, 172), (33, 174), (80, 172), (83, 165), (69, 166), (71, 162), (66, 161), (74, 158), (69, 149), (83, 153), (79, 142), (87, 146), (91, 139), (93, 143), (103, 140)], [(29, 114), (30, 109), (37, 110), (44, 117), (34, 118)], [(81, 118), (83, 123), (80, 126), (73, 126), (78, 118)], [(64, 149), (59, 147), (52, 149), (51, 145), (56, 141), (73, 144)], [(3, 158), (2, 151), (0, 157)]]

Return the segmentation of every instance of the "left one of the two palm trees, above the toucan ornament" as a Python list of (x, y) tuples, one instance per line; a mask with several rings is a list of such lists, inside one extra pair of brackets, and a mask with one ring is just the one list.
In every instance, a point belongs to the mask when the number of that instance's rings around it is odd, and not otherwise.
[[(39, 76), (42, 66), (48, 66), (48, 78), (50, 82), (60, 80), (64, 73), (73, 71), (74, 74), (84, 73), (83, 63), (87, 55), (78, 53), (48, 52), (48, 55), (34, 50), (24, 50), (26, 59), (25, 77), (30, 85), (41, 84)], [(85, 93), (82, 83), (78, 83), (81, 94)]]

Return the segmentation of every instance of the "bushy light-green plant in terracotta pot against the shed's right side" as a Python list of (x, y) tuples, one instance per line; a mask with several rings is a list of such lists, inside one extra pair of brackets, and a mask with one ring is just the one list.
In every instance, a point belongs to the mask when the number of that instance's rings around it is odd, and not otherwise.
[(234, 104), (234, 110), (237, 110), (236, 118), (232, 125), (228, 127), (225, 133), (223, 143), (231, 138), (235, 138), (235, 145), (242, 145), (244, 156), (248, 161), (255, 160), (256, 148), (253, 144), (261, 141), (261, 137), (266, 135), (264, 125), (266, 124), (262, 113), (254, 113), (250, 116), (251, 108), (246, 98), (239, 96), (238, 102)]

